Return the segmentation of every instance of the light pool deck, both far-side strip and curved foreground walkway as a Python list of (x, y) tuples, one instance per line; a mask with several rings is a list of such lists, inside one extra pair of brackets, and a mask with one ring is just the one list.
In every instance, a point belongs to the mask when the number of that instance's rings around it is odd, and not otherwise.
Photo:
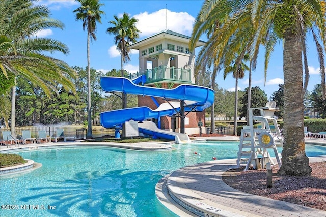
[[(239, 141), (239, 137), (200, 137), (197, 139)], [(326, 145), (326, 140), (306, 138), (306, 143)], [(42, 147), (69, 147), (94, 145), (90, 142), (58, 142), (20, 145), (11, 149), (0, 146), (0, 152), (35, 150)], [(169, 150), (171, 144), (151, 142), (97, 143), (96, 146), (111, 146), (134, 150)], [(20, 150), (19, 150), (20, 149)], [(326, 155), (310, 157), (310, 162), (326, 161)], [(312, 209), (288, 202), (268, 199), (235, 190), (225, 184), (222, 174), (236, 166), (235, 159), (216, 160), (180, 168), (162, 178), (155, 193), (160, 202), (179, 216), (326, 216), (326, 211)], [(177, 201), (177, 202), (176, 202)], [(183, 206), (181, 206), (181, 205)], [(185, 209), (186, 207), (187, 209)], [(191, 210), (191, 211), (189, 211)]]

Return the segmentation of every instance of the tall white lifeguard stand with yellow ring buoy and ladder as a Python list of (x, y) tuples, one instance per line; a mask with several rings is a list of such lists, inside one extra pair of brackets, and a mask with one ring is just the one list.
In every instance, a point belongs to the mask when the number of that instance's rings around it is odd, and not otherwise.
[[(254, 116), (253, 110), (259, 109), (260, 116)], [(264, 165), (269, 161), (274, 164), (273, 159), (271, 159), (268, 149), (273, 149), (275, 153), (276, 160), (279, 167), (281, 166), (281, 161), (279, 153), (276, 146), (276, 140), (283, 146), (283, 136), (278, 127), (277, 120), (274, 118), (274, 112), (279, 111), (276, 108), (275, 101), (269, 101), (266, 103), (265, 107), (261, 108), (250, 108), (249, 111), (249, 126), (243, 126), (240, 136), (239, 152), (237, 159), (237, 168), (240, 164), (246, 164), (245, 171), (249, 169), (250, 165), (257, 168), (259, 161)], [(261, 122), (261, 128), (254, 128), (254, 121)], [(275, 126), (275, 133), (272, 133), (268, 122), (273, 122)], [(258, 158), (258, 155), (261, 158)]]

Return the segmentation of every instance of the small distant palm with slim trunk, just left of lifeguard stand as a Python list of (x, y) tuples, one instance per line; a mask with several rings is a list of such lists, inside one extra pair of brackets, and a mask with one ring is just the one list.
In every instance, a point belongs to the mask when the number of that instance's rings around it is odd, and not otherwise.
[[(238, 59), (238, 57), (236, 57), (235, 59)], [(249, 55), (246, 54), (244, 55), (243, 58), (244, 61), (248, 61), (249, 60)], [(234, 100), (234, 128), (233, 128), (233, 134), (237, 136), (237, 131), (236, 131), (236, 127), (237, 127), (237, 116), (238, 116), (238, 79), (242, 79), (244, 78), (244, 71), (249, 70), (249, 67), (244, 64), (241, 63), (240, 67), (237, 67), (237, 65), (234, 63), (234, 65), (231, 66), (225, 66), (224, 68), (224, 74), (223, 74), (223, 78), (225, 80), (226, 76), (230, 73), (232, 73), (233, 78), (235, 78), (235, 100)]]

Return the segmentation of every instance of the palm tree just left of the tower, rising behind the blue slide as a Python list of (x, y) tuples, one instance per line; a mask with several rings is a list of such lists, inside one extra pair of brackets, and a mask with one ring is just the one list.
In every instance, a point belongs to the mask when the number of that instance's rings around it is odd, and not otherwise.
[[(130, 60), (130, 48), (131, 43), (136, 42), (139, 37), (140, 30), (136, 27), (138, 19), (130, 18), (127, 13), (124, 13), (121, 18), (114, 16), (115, 20), (111, 20), (112, 27), (108, 27), (106, 33), (115, 35), (114, 43), (117, 45), (117, 50), (121, 54), (121, 77), (123, 75), (123, 63), (128, 63)], [(122, 108), (127, 108), (127, 96), (122, 94)]]

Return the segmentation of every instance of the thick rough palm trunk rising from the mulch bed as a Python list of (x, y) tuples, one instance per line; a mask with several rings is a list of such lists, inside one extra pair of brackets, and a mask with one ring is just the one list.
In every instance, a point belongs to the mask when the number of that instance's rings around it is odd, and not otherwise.
[(284, 144), (280, 175), (306, 176), (311, 174), (305, 152), (303, 66), (300, 40), (286, 33), (283, 49), (284, 70)]

